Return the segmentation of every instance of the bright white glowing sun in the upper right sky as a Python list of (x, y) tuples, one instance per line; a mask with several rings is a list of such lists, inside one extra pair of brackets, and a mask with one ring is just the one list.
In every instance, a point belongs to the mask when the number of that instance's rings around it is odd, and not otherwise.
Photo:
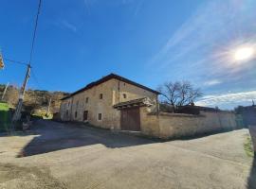
[(234, 60), (250, 60), (253, 58), (255, 49), (251, 46), (239, 47), (234, 51)]

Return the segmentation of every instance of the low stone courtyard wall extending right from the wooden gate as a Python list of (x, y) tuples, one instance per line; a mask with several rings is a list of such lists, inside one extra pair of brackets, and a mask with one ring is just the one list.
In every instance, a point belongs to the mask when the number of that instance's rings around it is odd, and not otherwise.
[(201, 112), (200, 115), (149, 112), (145, 107), (140, 108), (141, 131), (163, 139), (236, 128), (235, 115), (231, 112)]

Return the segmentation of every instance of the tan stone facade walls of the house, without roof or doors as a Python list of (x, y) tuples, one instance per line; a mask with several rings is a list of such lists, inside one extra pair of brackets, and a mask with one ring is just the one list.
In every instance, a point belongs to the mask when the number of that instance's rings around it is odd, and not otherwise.
[[(100, 94), (103, 95), (100, 99)], [(126, 95), (124, 98), (123, 94)], [(86, 98), (88, 102), (86, 103)], [(61, 105), (61, 118), (63, 121), (84, 121), (83, 112), (88, 111), (88, 122), (105, 129), (120, 129), (120, 112), (113, 105), (149, 97), (156, 102), (157, 95), (137, 86), (112, 78), (91, 89), (75, 94), (65, 99)], [(68, 112), (68, 113), (66, 113)], [(77, 116), (76, 115), (77, 112)], [(98, 119), (101, 113), (102, 119)]]

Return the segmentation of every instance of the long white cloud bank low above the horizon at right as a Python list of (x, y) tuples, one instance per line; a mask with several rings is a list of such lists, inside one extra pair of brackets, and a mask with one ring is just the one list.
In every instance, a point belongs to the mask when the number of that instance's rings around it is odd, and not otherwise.
[(251, 102), (252, 99), (256, 99), (256, 91), (205, 95), (195, 104), (198, 106), (221, 106), (224, 104), (242, 104), (245, 102)]

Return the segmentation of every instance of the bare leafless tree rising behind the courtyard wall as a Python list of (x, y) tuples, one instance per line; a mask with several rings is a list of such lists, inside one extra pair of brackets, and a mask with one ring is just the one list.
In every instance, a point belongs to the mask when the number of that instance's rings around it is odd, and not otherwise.
[(189, 81), (165, 82), (158, 87), (162, 95), (162, 103), (172, 107), (173, 112), (177, 107), (193, 104), (193, 101), (202, 96), (200, 88), (194, 88)]

